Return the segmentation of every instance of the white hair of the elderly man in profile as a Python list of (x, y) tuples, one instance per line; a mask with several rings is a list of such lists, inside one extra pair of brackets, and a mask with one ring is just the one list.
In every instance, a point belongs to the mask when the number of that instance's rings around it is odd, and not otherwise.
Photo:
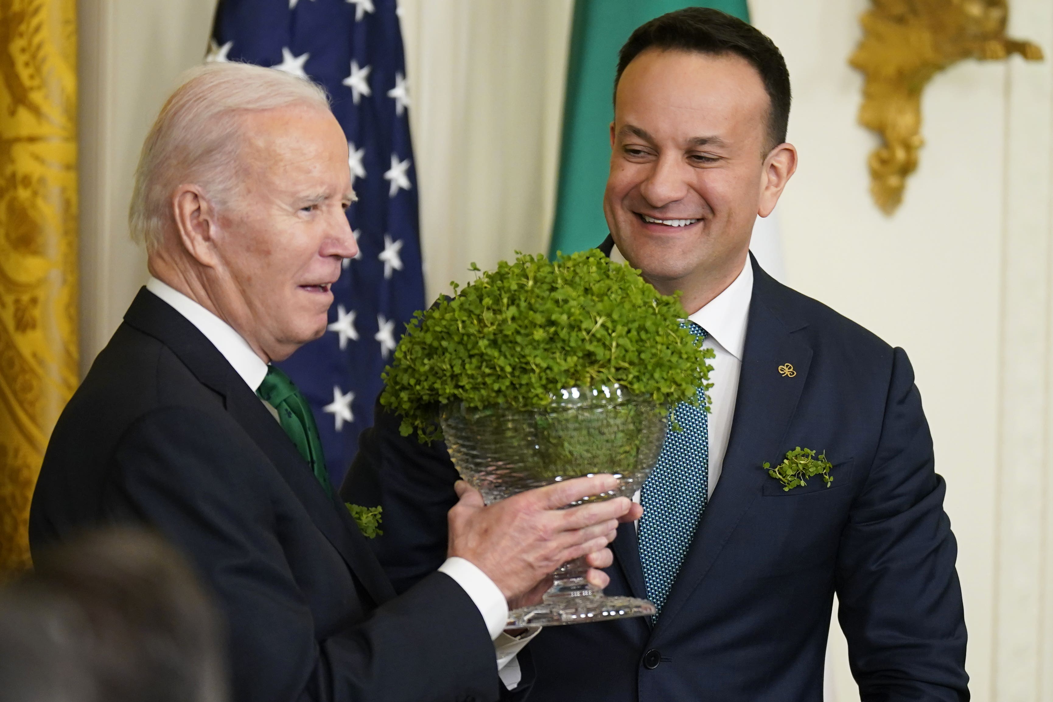
[(185, 72), (142, 144), (128, 208), (132, 239), (157, 249), (181, 183), (199, 185), (217, 206), (227, 203), (237, 184), (241, 115), (293, 104), (330, 108), (324, 88), (274, 68), (231, 62)]

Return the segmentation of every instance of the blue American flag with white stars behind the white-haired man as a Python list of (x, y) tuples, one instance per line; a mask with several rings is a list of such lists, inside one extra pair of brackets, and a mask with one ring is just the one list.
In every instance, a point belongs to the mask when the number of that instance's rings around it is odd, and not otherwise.
[(380, 373), (424, 303), (417, 176), (396, 0), (220, 0), (208, 61), (245, 61), (325, 86), (347, 137), (360, 248), (343, 261), (325, 335), (281, 363), (311, 401), (334, 485), (373, 423)]

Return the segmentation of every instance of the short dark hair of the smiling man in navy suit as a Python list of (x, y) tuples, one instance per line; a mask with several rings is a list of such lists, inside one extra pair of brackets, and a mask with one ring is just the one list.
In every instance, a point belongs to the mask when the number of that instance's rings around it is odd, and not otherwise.
[(757, 69), (764, 83), (771, 106), (768, 113), (769, 148), (787, 140), (790, 121), (790, 72), (778, 46), (756, 27), (711, 7), (684, 7), (656, 17), (640, 25), (618, 52), (618, 72), (614, 77), (617, 99), (618, 81), (625, 66), (649, 48), (696, 52), (712, 56), (734, 54)]

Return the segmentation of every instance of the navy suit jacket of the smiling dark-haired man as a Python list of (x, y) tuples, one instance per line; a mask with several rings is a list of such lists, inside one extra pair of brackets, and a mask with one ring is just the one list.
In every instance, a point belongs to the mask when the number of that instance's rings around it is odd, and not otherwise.
[[(907, 355), (751, 264), (722, 473), (657, 624), (542, 631), (533, 699), (819, 702), (836, 591), (863, 700), (968, 700), (957, 547)], [(393, 518), (373, 545), (403, 591), (441, 562), (457, 474), (398, 424), (378, 408), (342, 493)], [(827, 453), (832, 487), (787, 493), (761, 469), (796, 446)], [(645, 597), (632, 524), (612, 548), (607, 591)]]

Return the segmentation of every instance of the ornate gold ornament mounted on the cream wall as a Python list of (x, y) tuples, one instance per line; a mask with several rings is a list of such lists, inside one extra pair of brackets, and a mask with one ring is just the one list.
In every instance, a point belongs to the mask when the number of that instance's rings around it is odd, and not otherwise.
[(880, 135), (871, 152), (870, 192), (891, 215), (918, 163), (921, 92), (934, 75), (963, 59), (1019, 54), (1040, 61), (1037, 45), (1006, 36), (1008, 0), (872, 0), (863, 37), (849, 63), (866, 75), (859, 123)]

